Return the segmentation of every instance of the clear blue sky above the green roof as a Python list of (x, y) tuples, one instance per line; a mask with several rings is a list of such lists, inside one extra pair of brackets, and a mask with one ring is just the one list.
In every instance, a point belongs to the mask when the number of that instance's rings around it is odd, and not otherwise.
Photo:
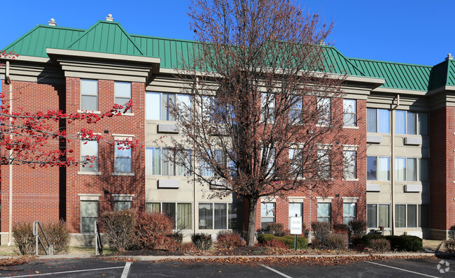
[[(330, 42), (347, 57), (435, 65), (455, 56), (454, 1), (297, 1), (325, 22), (334, 22)], [(36, 24), (86, 29), (111, 13), (130, 34), (193, 39), (186, 0), (15, 1), (3, 3), (0, 47)]]

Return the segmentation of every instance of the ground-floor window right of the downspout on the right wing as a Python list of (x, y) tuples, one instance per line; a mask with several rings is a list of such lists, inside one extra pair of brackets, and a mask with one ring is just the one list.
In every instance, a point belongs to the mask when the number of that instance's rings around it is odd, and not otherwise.
[(395, 205), (397, 228), (428, 227), (428, 205)]

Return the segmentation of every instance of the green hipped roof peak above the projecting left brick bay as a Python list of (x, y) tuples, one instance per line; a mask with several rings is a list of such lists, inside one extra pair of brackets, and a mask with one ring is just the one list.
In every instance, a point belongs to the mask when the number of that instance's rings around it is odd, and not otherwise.
[(118, 22), (101, 20), (87, 29), (83, 35), (67, 48), (69, 50), (144, 56), (130, 35)]

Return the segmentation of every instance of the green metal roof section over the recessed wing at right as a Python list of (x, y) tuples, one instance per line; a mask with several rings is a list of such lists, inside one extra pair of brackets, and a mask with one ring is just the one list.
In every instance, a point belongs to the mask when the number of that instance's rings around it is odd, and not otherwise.
[(356, 58), (351, 58), (351, 61), (358, 66), (365, 75), (375, 78), (384, 78), (386, 82), (384, 85), (381, 85), (381, 87), (414, 91), (428, 90), (431, 66)]

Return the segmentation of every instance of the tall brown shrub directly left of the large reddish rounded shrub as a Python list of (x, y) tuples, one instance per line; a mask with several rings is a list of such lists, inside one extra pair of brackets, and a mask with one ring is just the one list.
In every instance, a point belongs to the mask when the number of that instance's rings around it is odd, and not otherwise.
[(101, 221), (111, 247), (117, 251), (124, 251), (132, 246), (134, 243), (134, 226), (136, 226), (136, 213), (134, 211), (104, 212)]

